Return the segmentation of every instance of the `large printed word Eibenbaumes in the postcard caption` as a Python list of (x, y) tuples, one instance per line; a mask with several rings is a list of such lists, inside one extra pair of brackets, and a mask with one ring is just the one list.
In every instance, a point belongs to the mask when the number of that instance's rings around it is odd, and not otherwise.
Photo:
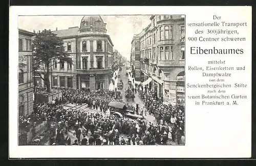
[(244, 50), (241, 49), (202, 49), (201, 47), (190, 47), (191, 54), (243, 54)]

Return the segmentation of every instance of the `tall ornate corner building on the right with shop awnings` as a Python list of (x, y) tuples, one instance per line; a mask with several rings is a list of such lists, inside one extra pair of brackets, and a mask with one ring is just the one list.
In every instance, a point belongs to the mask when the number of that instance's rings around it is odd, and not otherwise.
[(140, 36), (141, 76), (163, 103), (184, 103), (184, 16), (153, 15), (150, 19)]

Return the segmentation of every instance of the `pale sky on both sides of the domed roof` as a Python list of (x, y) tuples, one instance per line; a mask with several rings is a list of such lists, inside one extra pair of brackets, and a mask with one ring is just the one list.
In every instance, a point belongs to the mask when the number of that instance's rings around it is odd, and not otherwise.
[[(44, 29), (55, 31), (78, 26), (83, 16), (19, 16), (18, 28), (33, 32)], [(122, 56), (130, 59), (131, 42), (134, 34), (139, 34), (143, 28), (150, 24), (150, 15), (118, 15), (101, 16), (106, 23), (106, 34)]]

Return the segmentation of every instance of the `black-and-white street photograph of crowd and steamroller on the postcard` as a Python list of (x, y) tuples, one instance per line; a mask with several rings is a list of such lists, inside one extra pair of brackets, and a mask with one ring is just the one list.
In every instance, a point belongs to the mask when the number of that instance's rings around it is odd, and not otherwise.
[(185, 15), (20, 15), (17, 31), (18, 146), (185, 145)]

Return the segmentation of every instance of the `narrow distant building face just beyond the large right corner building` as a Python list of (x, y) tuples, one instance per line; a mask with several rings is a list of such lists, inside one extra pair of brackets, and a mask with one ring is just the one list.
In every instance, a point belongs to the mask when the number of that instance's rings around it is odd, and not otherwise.
[(132, 48), (131, 48), (131, 60), (132, 60), (132, 67), (134, 68), (134, 77), (136, 81), (141, 80), (141, 64), (140, 64), (140, 34), (134, 35), (132, 40)]

